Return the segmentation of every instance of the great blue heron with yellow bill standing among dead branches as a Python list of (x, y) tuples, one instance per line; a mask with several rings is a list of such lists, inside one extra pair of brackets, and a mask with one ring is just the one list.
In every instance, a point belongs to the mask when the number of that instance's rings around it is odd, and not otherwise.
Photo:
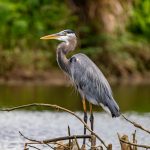
[[(59, 67), (71, 78), (82, 97), (84, 121), (86, 123), (85, 99), (89, 101), (91, 130), (93, 130), (94, 122), (92, 104), (102, 106), (112, 117), (118, 117), (120, 115), (119, 106), (112, 96), (110, 85), (93, 61), (82, 53), (75, 54), (67, 59), (66, 55), (70, 51), (73, 51), (77, 44), (77, 37), (72, 30), (63, 30), (56, 34), (41, 37), (41, 39), (57, 39), (63, 41), (57, 47), (57, 62)], [(85, 127), (84, 134), (86, 134)], [(83, 140), (83, 145), (85, 145), (85, 139)]]

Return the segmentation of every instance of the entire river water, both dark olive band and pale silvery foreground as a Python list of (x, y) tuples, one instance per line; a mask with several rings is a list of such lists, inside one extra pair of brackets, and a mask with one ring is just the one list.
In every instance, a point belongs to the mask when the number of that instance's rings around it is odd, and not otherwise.
[[(125, 115), (150, 129), (150, 86), (113, 86), (114, 97)], [(66, 107), (83, 117), (80, 96), (72, 87), (51, 87), (40, 85), (0, 86), (0, 106), (11, 107), (33, 102), (51, 103)], [(122, 118), (112, 119), (102, 109), (94, 108), (95, 132), (104, 141), (119, 150), (117, 132), (131, 137), (135, 128)], [(71, 134), (83, 134), (83, 125), (73, 116), (64, 112), (41, 109), (23, 109), (0, 112), (0, 150), (21, 150), (24, 135), (37, 139), (49, 139), (67, 135), (68, 125)], [(139, 144), (150, 145), (150, 135), (137, 129)], [(81, 143), (81, 141), (79, 141)], [(40, 147), (39, 147), (40, 148)], [(32, 150), (32, 148), (30, 148)], [(42, 147), (42, 150), (49, 149)]]

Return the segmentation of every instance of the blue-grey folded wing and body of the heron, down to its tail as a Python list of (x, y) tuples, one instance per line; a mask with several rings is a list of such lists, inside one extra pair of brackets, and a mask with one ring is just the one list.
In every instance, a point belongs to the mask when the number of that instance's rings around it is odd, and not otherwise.
[(108, 108), (112, 115), (117, 116), (119, 107), (113, 99), (109, 83), (86, 55), (76, 54), (70, 58), (70, 72), (82, 96), (93, 104)]

